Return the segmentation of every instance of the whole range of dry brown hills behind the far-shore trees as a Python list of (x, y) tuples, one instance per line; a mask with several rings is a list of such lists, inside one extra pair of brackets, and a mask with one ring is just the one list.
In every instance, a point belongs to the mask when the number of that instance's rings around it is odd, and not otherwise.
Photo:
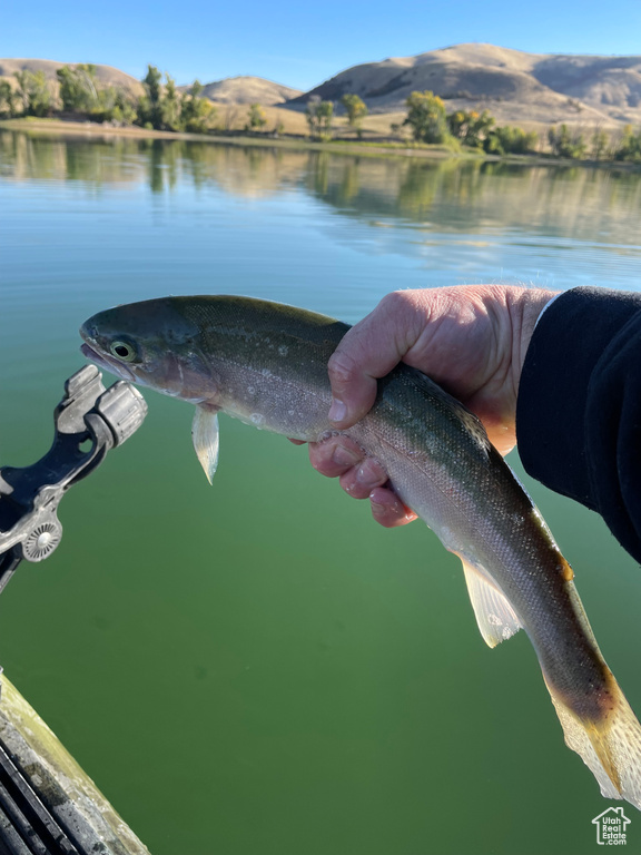
[[(46, 59), (0, 59), (0, 79), (16, 85), (16, 71), (41, 70), (57, 91), (56, 69), (62, 65)], [(117, 68), (96, 66), (96, 76), (103, 86), (118, 87), (134, 97), (144, 92), (139, 80)], [(425, 89), (441, 96), (448, 112), (487, 109), (501, 125), (641, 125), (641, 56), (526, 53), (494, 45), (455, 45), (353, 66), (304, 94), (244, 76), (206, 83), (203, 95), (219, 105), (227, 129), (243, 127), (246, 105), (256, 102), (277, 110), (278, 115), (268, 117), (270, 127), (273, 121), (285, 132), (305, 134), (300, 112), (312, 96), (336, 102), (354, 92), (369, 108), (366, 131), (386, 136), (392, 121), (403, 120), (407, 96)]]

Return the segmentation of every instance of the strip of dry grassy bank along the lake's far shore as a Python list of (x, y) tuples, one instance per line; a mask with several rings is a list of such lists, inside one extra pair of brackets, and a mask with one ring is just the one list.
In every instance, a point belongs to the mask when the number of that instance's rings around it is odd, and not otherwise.
[(63, 121), (61, 119), (0, 119), (0, 130), (33, 131), (65, 137), (128, 137), (130, 139), (168, 139), (190, 142), (211, 142), (228, 146), (256, 146), (263, 148), (306, 149), (328, 151), (335, 155), (358, 155), (359, 157), (418, 157), (437, 160), (483, 160), (487, 163), (506, 163), (522, 166), (570, 166), (583, 168), (615, 168), (624, 171), (641, 171), (641, 164), (605, 160), (570, 160), (541, 155), (487, 155), (477, 151), (455, 153), (445, 146), (418, 148), (402, 145), (385, 145), (383, 142), (363, 142), (358, 140), (333, 140), (315, 142), (310, 139), (296, 137), (249, 136), (229, 134), (185, 134), (169, 130), (147, 130), (135, 126), (112, 127), (92, 121)]

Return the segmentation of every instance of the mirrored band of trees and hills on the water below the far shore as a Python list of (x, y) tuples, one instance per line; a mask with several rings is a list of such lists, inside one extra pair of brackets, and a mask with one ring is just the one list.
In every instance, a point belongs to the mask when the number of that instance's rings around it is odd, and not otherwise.
[(386, 215), (422, 227), (529, 232), (638, 244), (641, 174), (617, 169), (375, 158), (105, 137), (90, 142), (0, 132), (2, 174), (13, 180), (72, 180), (90, 188), (146, 181), (154, 194), (180, 186), (265, 198), (304, 190), (345, 216)]

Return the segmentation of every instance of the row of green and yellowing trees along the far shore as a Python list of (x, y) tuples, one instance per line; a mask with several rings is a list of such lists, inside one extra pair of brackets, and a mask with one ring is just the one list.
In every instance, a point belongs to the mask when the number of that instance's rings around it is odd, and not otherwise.
[[(150, 130), (188, 131), (203, 134), (216, 125), (216, 107), (201, 97), (203, 85), (195, 80), (179, 91), (168, 73), (162, 75), (149, 65), (141, 83), (144, 95), (135, 98), (115, 86), (102, 86), (97, 80), (96, 66), (62, 66), (57, 69), (58, 96), (55, 97), (43, 71), (24, 69), (14, 73), (16, 86), (0, 80), (0, 116), (46, 117), (55, 114), (83, 116), (93, 121), (118, 125), (139, 125)], [(358, 139), (363, 137), (363, 120), (367, 106), (358, 95), (345, 94), (339, 100), (347, 126)], [(533, 154), (541, 149), (536, 131), (526, 131), (511, 125), (499, 126), (487, 111), (455, 110), (447, 114), (443, 99), (432, 91), (412, 92), (406, 99), (407, 115), (403, 122), (393, 125), (398, 132), (407, 127), (416, 142), (445, 145), (453, 150), (461, 146), (492, 155)], [(335, 105), (312, 96), (305, 107), (309, 135), (319, 140), (333, 137)], [(259, 104), (248, 107), (245, 130), (264, 131), (265, 110)], [(274, 129), (283, 132), (278, 122)], [(556, 157), (574, 160), (624, 160), (641, 163), (641, 129), (627, 126), (622, 134), (610, 135), (598, 128), (589, 135), (568, 125), (552, 127), (546, 142)]]

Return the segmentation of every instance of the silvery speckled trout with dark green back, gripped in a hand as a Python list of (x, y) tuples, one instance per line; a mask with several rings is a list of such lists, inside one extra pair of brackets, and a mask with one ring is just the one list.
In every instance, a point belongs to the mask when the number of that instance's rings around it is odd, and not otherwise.
[(195, 405), (193, 442), (209, 481), (218, 413), (307, 442), (351, 436), (461, 559), (485, 642), (526, 632), (565, 743), (601, 794), (641, 809), (641, 726), (541, 513), (479, 419), (416, 368), (394, 368), (378, 381), (372, 410), (335, 431), (327, 362), (348, 328), (279, 303), (214, 295), (109, 308), (80, 335), (98, 366)]

